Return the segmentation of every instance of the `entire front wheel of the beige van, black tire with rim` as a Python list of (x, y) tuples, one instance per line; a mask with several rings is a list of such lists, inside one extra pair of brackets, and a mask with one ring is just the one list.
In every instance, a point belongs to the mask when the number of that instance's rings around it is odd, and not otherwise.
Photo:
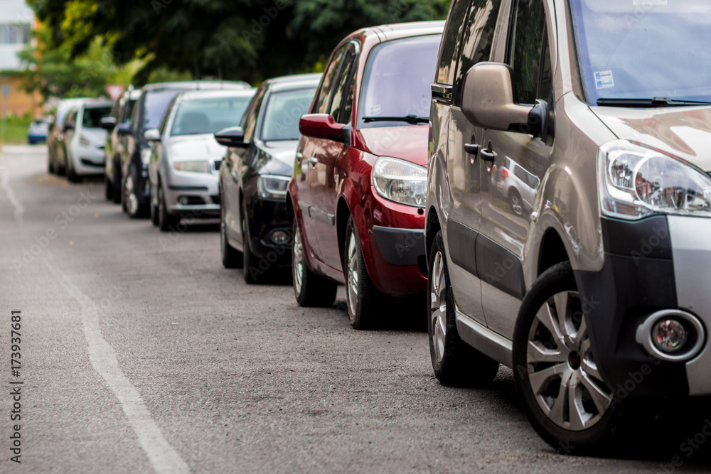
[(550, 446), (575, 455), (609, 451), (621, 426), (619, 406), (595, 365), (570, 263), (545, 271), (523, 298), (513, 367), (526, 416)]

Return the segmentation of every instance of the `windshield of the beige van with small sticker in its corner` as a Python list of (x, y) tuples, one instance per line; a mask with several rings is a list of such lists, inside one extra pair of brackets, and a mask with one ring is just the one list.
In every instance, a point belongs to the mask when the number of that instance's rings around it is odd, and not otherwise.
[(711, 100), (710, 1), (570, 0), (570, 4), (590, 104), (599, 99), (656, 97)]

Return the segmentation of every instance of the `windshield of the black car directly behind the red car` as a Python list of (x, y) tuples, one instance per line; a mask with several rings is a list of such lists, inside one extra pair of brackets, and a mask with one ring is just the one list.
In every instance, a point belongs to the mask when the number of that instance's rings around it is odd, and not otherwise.
[(316, 87), (274, 92), (264, 111), (262, 141), (298, 140), (299, 119), (309, 112)]

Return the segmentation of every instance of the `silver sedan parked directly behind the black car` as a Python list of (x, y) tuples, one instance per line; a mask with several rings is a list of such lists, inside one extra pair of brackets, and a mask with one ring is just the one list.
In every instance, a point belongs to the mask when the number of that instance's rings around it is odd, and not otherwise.
[(168, 107), (159, 129), (146, 130), (152, 142), (151, 220), (163, 232), (183, 215), (218, 217), (218, 173), (225, 147), (215, 132), (242, 121), (255, 90), (182, 92)]

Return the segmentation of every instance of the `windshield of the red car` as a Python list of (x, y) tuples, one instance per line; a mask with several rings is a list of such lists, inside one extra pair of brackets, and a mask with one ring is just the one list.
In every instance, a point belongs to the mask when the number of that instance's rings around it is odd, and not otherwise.
[(441, 40), (442, 35), (417, 36), (373, 48), (358, 108), (361, 129), (427, 123)]

